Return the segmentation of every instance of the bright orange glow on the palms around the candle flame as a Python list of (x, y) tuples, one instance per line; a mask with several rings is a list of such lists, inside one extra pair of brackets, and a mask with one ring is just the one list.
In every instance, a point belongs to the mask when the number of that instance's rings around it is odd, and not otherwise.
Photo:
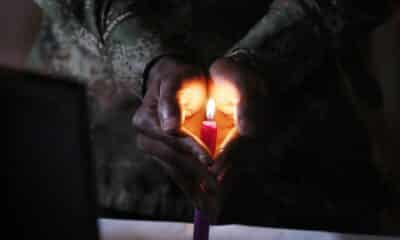
[(213, 158), (217, 158), (226, 145), (238, 136), (236, 109), (240, 94), (232, 83), (221, 79), (213, 79), (208, 90), (210, 99), (207, 101), (206, 81), (193, 79), (182, 85), (178, 91), (177, 97), (182, 115), (181, 131), (207, 149), (200, 140), (200, 128), (204, 120), (215, 120), (218, 133)]

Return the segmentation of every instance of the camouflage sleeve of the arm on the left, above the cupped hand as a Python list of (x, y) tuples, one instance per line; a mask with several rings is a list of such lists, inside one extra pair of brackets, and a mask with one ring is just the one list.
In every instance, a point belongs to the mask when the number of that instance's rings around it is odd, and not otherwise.
[(144, 85), (143, 71), (153, 59), (189, 52), (184, 39), (191, 23), (190, 1), (169, 1), (166, 6), (154, 2), (114, 0), (101, 12), (102, 39), (115, 77), (138, 91)]

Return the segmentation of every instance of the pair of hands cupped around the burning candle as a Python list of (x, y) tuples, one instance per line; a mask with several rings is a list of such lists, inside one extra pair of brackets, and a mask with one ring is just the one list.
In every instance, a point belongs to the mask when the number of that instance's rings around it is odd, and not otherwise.
[[(215, 219), (223, 177), (232, 167), (227, 155), (240, 139), (262, 131), (260, 99), (266, 94), (256, 72), (229, 58), (216, 60), (206, 74), (199, 66), (163, 57), (151, 68), (147, 92), (133, 117), (137, 145), (159, 161), (195, 207)], [(217, 107), (214, 156), (199, 140), (208, 97)]]

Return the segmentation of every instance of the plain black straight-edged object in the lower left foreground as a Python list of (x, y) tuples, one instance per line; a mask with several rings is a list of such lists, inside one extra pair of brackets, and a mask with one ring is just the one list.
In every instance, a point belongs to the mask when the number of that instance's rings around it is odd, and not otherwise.
[(2, 234), (97, 239), (85, 88), (6, 69), (0, 78), (2, 133), (9, 144), (2, 156)]

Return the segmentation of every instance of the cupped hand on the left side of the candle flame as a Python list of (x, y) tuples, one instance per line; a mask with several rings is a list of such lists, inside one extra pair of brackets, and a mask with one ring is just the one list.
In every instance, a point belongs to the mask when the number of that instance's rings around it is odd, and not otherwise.
[(138, 147), (154, 156), (205, 211), (214, 208), (216, 191), (215, 178), (207, 171), (211, 157), (196, 137), (206, 96), (207, 80), (198, 66), (164, 57), (151, 68), (142, 105), (133, 117)]

